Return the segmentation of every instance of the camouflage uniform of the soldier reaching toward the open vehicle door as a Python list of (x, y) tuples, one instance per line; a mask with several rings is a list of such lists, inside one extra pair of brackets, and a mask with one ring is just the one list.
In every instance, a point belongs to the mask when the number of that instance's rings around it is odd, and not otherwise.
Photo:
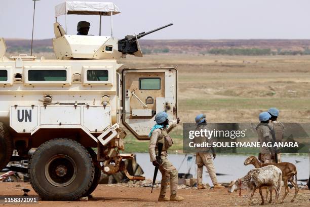
[[(169, 126), (175, 127), (177, 125), (177, 120), (173, 120), (169, 122)], [(163, 141), (163, 133), (167, 133), (166, 129), (154, 129), (152, 135), (150, 137), (149, 143), (149, 156), (150, 161), (156, 160), (156, 155), (158, 154), (158, 143)], [(160, 163), (159, 170), (162, 174), (162, 183), (161, 183), (161, 196), (166, 195), (167, 187), (168, 187), (168, 179), (170, 177), (170, 194), (176, 194), (178, 189), (178, 170), (173, 166), (173, 164), (167, 158), (168, 153), (167, 149), (165, 149), (165, 145), (162, 150), (162, 163)]]

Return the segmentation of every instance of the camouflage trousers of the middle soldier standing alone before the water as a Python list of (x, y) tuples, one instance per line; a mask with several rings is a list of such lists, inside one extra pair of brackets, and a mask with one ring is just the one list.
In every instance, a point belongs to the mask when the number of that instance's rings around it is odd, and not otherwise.
[(217, 184), (217, 179), (215, 175), (215, 167), (212, 160), (212, 154), (199, 152), (196, 153), (196, 164), (197, 164), (197, 183), (198, 185), (202, 184), (202, 174), (204, 165), (206, 166), (209, 176), (213, 185)]

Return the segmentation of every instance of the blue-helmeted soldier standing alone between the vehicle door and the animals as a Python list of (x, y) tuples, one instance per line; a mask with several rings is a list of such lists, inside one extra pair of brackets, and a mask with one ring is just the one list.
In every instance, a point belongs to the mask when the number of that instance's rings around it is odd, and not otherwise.
[[(209, 130), (207, 126), (206, 115), (204, 114), (197, 115), (195, 118), (195, 122), (197, 124), (197, 127), (195, 129), (196, 131), (205, 130), (205, 129)], [(202, 144), (204, 142), (208, 142), (211, 144), (212, 137), (198, 136), (198, 137), (195, 137), (194, 142), (196, 144)], [(213, 159), (215, 159), (216, 155), (215, 155), (215, 151), (213, 147), (196, 148), (197, 183), (198, 183), (197, 188), (198, 189), (205, 189), (205, 186), (203, 186), (203, 183), (202, 183), (204, 165), (206, 166), (209, 172), (214, 188), (224, 188), (224, 186), (220, 185), (217, 182), (212, 156), (213, 156)]]

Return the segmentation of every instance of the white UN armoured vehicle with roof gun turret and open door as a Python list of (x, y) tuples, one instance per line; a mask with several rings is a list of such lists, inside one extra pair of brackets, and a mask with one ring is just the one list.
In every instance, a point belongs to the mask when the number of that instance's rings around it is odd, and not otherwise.
[[(33, 189), (43, 199), (73, 200), (97, 187), (101, 170), (124, 171), (121, 154), (126, 127), (138, 140), (148, 140), (154, 115), (177, 117), (176, 68), (126, 68), (127, 54), (142, 56), (138, 39), (145, 34), (112, 36), (112, 3), (65, 2), (56, 6), (53, 48), (57, 59), (6, 57), (0, 39), (0, 168), (29, 159)], [(110, 16), (111, 36), (67, 34), (57, 17)], [(100, 28), (101, 31), (101, 28)], [(171, 130), (171, 128), (169, 128)], [(29, 150), (36, 148), (30, 156)], [(96, 148), (97, 153), (93, 150)], [(13, 150), (18, 156), (12, 156)]]

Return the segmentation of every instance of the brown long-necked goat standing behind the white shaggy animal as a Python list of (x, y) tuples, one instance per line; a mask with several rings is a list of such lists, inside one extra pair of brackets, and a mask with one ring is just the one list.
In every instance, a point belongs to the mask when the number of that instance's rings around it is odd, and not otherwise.
[[(289, 181), (292, 186), (295, 188), (295, 195), (291, 202), (295, 201), (296, 195), (299, 191), (298, 185), (297, 185), (297, 169), (296, 166), (290, 162), (280, 162), (280, 163), (261, 163), (255, 156), (251, 155), (249, 156), (245, 161), (244, 165), (253, 164), (255, 168), (267, 166), (267, 165), (275, 165), (279, 167), (282, 170), (282, 180), (285, 187), (285, 193), (283, 195), (282, 201), (284, 201), (284, 198), (289, 192), (289, 187), (287, 185), (287, 182)], [(294, 182), (294, 176), (295, 176), (295, 182)], [(268, 197), (268, 191), (266, 193), (266, 199)], [(270, 199), (272, 197), (272, 191), (270, 191)]]

